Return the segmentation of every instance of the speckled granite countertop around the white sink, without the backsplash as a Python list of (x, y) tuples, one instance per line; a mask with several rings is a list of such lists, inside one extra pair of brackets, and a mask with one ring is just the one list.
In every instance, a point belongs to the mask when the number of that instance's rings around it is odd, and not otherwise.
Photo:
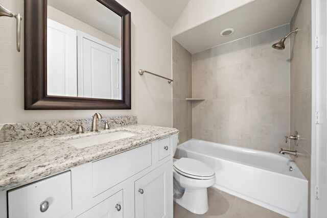
[[(117, 131), (138, 134), (83, 149), (77, 149), (67, 143), (70, 139)], [(0, 143), (0, 191), (35, 182), (176, 133), (178, 130), (174, 128), (130, 125), (96, 133), (73, 133)]]

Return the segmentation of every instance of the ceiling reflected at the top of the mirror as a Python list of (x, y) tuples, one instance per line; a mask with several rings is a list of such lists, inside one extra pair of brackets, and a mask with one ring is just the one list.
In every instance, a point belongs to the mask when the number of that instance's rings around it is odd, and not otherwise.
[(48, 5), (116, 39), (121, 39), (121, 17), (98, 1), (48, 0)]

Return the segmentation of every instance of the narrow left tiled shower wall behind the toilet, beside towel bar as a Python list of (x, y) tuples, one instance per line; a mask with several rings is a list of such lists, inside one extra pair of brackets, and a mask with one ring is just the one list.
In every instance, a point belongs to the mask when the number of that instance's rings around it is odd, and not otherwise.
[(173, 127), (179, 144), (192, 138), (192, 55), (175, 39), (173, 46)]

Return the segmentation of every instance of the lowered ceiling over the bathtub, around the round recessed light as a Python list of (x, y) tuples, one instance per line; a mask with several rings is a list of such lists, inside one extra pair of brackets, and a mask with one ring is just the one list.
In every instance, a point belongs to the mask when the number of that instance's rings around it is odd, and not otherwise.
[[(194, 54), (289, 23), (298, 3), (299, 0), (255, 0), (173, 38)], [(226, 28), (235, 29), (235, 33), (221, 37), (219, 33)]]

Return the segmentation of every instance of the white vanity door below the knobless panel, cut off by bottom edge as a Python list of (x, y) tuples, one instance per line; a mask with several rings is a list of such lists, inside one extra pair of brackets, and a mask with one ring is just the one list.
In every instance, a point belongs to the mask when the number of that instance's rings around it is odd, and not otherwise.
[(77, 216), (78, 218), (123, 218), (123, 190)]

